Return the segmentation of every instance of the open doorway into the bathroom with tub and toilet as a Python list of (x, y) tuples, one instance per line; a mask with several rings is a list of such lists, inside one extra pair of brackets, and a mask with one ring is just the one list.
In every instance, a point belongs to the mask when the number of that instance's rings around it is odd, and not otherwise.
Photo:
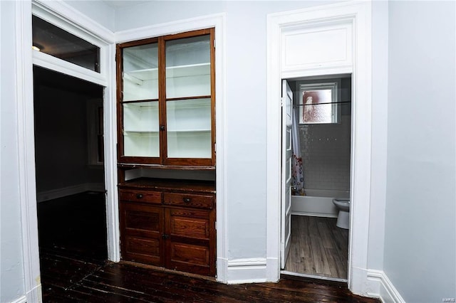
[[(282, 147), (282, 154), (289, 157), (289, 161), (282, 160), (282, 165), (287, 166), (282, 169), (282, 186), (289, 186), (289, 196), (284, 195), (281, 208), (286, 213), (282, 216), (286, 222), (281, 224), (281, 274), (347, 282), (351, 74), (285, 81), (291, 90), (288, 94), (293, 97), (291, 144), (289, 148)], [(282, 127), (286, 125), (282, 123)], [(334, 201), (341, 201), (348, 209), (341, 210)]]

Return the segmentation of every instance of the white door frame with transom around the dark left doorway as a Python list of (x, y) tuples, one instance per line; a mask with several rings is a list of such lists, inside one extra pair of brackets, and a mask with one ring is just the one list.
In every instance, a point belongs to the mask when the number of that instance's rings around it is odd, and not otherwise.
[[(32, 9), (33, 7), (33, 9)], [(86, 70), (31, 49), (31, 16), (40, 14), (76, 36), (100, 47), (100, 73)], [(115, 142), (114, 35), (111, 31), (76, 11), (63, 1), (16, 1), (16, 97), (19, 129), (19, 194), (22, 220), (22, 252), (26, 302), (41, 302), (41, 280), (38, 253), (38, 220), (36, 207), (35, 139), (33, 124), (33, 65), (73, 75), (102, 85), (104, 90), (105, 189), (108, 228), (108, 259), (120, 260), (118, 232), (118, 198)]]

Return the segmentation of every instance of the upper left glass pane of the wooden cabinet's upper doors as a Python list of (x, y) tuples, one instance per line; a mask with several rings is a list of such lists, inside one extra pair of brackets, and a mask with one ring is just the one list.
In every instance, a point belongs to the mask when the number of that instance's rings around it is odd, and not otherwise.
[(123, 101), (158, 99), (158, 43), (123, 48)]

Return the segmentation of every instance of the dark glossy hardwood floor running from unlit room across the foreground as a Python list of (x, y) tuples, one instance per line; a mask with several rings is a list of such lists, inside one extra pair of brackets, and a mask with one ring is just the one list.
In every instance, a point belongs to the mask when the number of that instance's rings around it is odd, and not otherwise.
[(380, 302), (351, 294), (344, 283), (283, 277), (277, 283), (225, 285), (108, 262), (104, 195), (39, 203), (38, 224), (43, 302)]

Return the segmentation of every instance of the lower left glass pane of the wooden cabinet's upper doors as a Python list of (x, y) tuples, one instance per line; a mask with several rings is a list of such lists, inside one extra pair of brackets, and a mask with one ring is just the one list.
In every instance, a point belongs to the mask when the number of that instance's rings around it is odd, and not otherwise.
[(123, 104), (124, 156), (160, 156), (158, 102)]

